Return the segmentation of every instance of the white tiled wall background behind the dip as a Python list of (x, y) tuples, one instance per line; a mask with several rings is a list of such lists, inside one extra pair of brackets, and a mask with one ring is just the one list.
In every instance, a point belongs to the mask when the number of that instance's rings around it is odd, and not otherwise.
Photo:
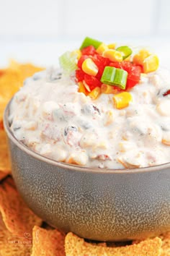
[(86, 35), (151, 46), (170, 64), (169, 0), (0, 0), (0, 66), (57, 64)]

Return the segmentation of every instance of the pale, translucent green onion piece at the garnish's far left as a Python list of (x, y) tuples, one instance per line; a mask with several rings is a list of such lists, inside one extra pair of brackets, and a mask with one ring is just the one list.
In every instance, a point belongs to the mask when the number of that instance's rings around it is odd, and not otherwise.
[(59, 58), (60, 65), (64, 71), (71, 73), (77, 69), (77, 54), (73, 54), (71, 51), (66, 51)]

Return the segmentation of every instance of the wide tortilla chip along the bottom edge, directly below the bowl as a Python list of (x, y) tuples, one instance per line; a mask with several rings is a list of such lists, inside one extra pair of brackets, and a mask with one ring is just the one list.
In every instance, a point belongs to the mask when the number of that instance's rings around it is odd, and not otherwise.
[(125, 247), (101, 247), (84, 242), (84, 239), (70, 232), (66, 235), (65, 251), (66, 256), (158, 256), (161, 252), (161, 243), (161, 239), (156, 237)]

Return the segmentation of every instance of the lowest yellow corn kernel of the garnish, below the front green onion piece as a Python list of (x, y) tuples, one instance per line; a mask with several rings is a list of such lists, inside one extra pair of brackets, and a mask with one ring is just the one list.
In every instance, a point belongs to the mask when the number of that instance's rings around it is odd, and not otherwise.
[(115, 108), (121, 109), (129, 106), (130, 101), (133, 101), (132, 95), (128, 92), (118, 93), (113, 96)]

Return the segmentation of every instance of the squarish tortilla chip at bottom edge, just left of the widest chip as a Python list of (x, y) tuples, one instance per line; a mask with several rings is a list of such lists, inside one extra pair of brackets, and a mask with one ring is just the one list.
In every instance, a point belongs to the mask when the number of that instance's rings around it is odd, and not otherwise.
[(35, 226), (32, 234), (31, 256), (64, 256), (65, 236), (57, 229), (46, 230)]

